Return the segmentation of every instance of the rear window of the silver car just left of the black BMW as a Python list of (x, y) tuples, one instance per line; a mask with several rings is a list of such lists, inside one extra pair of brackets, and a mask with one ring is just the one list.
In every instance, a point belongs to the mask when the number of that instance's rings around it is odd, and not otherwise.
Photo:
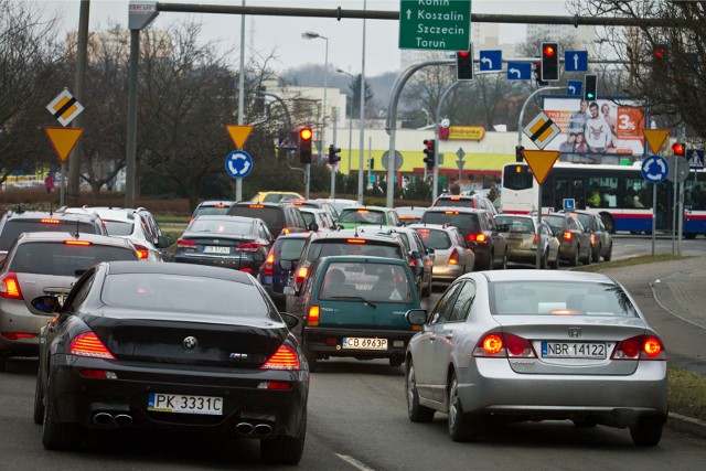
[[(68, 240), (68, 244), (75, 240)], [(10, 271), (75, 277), (100, 261), (137, 260), (128, 247), (42, 242), (18, 246)]]

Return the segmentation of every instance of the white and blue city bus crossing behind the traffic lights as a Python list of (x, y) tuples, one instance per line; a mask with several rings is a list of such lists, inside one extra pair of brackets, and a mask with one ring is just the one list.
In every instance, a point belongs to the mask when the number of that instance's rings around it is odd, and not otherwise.
[[(598, 213), (610, 232), (652, 232), (652, 192), (657, 192), (655, 227), (672, 229), (674, 186), (665, 180), (648, 183), (640, 163), (601, 165), (557, 162), (542, 185), (543, 214), (564, 208), (574, 200), (577, 210)], [(684, 237), (706, 235), (706, 172), (692, 171), (684, 182)], [(503, 168), (501, 203), (504, 213), (526, 214), (537, 210), (538, 185), (526, 162)]]

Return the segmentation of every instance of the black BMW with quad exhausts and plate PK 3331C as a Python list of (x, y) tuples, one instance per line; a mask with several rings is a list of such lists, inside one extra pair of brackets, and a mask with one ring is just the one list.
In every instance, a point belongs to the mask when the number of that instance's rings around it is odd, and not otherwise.
[(174, 429), (257, 438), (263, 459), (295, 464), (309, 368), (290, 329), (247, 274), (217, 267), (104, 263), (42, 330), (34, 421), (46, 449), (89, 430)]

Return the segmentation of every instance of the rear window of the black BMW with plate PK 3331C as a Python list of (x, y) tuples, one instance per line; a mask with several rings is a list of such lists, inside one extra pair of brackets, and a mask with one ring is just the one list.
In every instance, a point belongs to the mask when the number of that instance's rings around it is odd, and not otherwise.
[[(197, 296), (196, 296), (197, 295)], [(120, 274), (106, 278), (100, 298), (108, 306), (152, 312), (190, 312), (261, 318), (269, 308), (252, 285), (169, 274)]]

